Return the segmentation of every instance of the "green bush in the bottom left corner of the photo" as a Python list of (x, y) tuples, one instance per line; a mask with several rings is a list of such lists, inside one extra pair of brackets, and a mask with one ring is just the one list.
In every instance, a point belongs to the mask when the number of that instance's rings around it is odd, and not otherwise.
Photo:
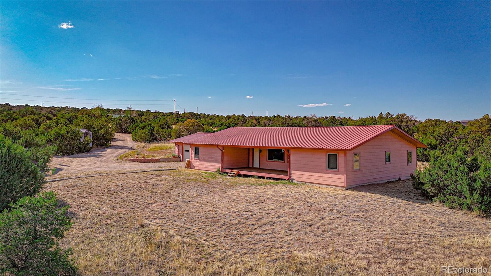
[(75, 275), (76, 267), (58, 241), (71, 226), (69, 206), (57, 207), (55, 193), (23, 197), (0, 214), (0, 273)]

